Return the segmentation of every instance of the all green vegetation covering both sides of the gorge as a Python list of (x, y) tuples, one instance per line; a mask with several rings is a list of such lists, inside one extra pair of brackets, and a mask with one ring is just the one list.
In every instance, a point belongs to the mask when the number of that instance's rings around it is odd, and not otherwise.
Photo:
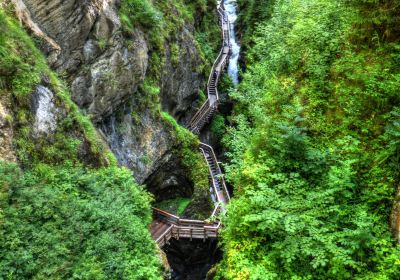
[[(229, 151), (235, 186), (217, 279), (398, 279), (389, 217), (400, 183), (400, 3), (238, 2), (246, 72), (231, 90), (228, 133), (221, 115), (210, 126)], [(179, 63), (181, 36), (192, 36), (183, 32), (187, 23), (198, 30), (198, 71), (208, 74), (220, 40), (214, 5), (125, 0), (119, 7), (125, 35), (140, 29), (150, 42), (141, 105), (171, 128), (196, 183), (192, 201), (164, 202), (179, 215), (210, 204), (207, 170), (197, 138), (161, 112), (160, 76), (167, 59)], [(64, 116), (53, 135), (35, 138), (31, 95), (39, 83)], [(67, 87), (2, 11), (0, 94), (12, 104), (20, 163), (0, 161), (0, 279), (160, 278), (146, 228), (151, 198), (116, 167)]]

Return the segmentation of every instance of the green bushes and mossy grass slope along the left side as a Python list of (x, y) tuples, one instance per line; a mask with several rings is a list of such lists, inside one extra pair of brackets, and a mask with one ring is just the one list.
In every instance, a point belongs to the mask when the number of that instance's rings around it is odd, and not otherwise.
[[(39, 83), (64, 114), (51, 135), (32, 128)], [(116, 167), (66, 86), (1, 10), (0, 102), (11, 108), (23, 167), (0, 161), (0, 279), (160, 279), (149, 195)]]

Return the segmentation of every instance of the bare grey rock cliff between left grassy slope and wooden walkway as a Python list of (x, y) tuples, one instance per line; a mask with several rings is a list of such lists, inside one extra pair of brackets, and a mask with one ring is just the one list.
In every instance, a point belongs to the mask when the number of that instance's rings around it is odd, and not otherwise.
[[(172, 132), (157, 114), (160, 105), (183, 122), (193, 113), (205, 80), (196, 71), (202, 61), (192, 36), (193, 23), (176, 30), (174, 41), (164, 42), (164, 53), (158, 54), (165, 59), (157, 81), (159, 105), (154, 106), (149, 93), (141, 89), (152, 61), (149, 35), (141, 28), (129, 36), (123, 32), (119, 1), (13, 2), (20, 19), (41, 42), (49, 64), (68, 81), (72, 99), (90, 115), (119, 163), (129, 167), (140, 183), (151, 177), (153, 188), (193, 184), (184, 171), (171, 174), (160, 168), (181, 169), (171, 153), (176, 144)], [(181, 50), (178, 55), (173, 46)]]

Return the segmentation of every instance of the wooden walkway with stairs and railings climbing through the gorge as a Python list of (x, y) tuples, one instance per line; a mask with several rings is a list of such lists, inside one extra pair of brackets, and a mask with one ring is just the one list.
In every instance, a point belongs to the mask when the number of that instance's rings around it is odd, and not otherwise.
[[(208, 79), (208, 98), (188, 124), (188, 129), (195, 134), (200, 133), (201, 129), (210, 121), (217, 110), (219, 104), (218, 81), (231, 52), (229, 43), (230, 24), (223, 1), (218, 1), (217, 11), (222, 31), (222, 47)], [(200, 151), (204, 156), (210, 174), (210, 194), (214, 203), (214, 211), (210, 220), (216, 220), (216, 216), (219, 213), (225, 212), (225, 206), (229, 203), (230, 196), (213, 148), (201, 143)], [(150, 231), (158, 246), (163, 247), (171, 238), (188, 238), (190, 240), (217, 238), (220, 227), (220, 222), (207, 223), (206, 221), (181, 219), (163, 210), (153, 208), (153, 222), (151, 223)]]

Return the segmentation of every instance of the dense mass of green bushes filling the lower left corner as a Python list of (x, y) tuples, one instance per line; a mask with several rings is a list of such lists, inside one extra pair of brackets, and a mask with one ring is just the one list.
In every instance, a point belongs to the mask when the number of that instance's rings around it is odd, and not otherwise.
[(0, 162), (0, 278), (160, 279), (149, 200), (126, 169)]

